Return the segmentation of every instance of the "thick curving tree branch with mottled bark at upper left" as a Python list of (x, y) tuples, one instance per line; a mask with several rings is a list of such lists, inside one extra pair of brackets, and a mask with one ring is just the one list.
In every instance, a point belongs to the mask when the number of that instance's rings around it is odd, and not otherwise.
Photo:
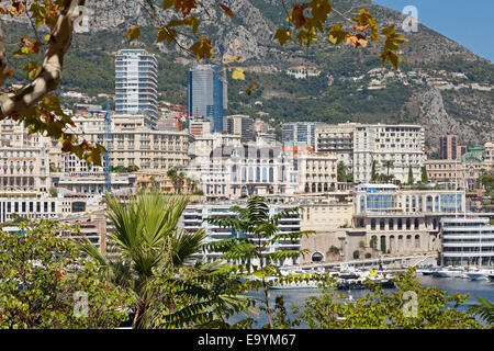
[(49, 37), (40, 75), (16, 92), (0, 95), (0, 120), (29, 110), (60, 84), (64, 56), (70, 47), (74, 20), (78, 15), (75, 9), (85, 4), (86, 0), (65, 0)]

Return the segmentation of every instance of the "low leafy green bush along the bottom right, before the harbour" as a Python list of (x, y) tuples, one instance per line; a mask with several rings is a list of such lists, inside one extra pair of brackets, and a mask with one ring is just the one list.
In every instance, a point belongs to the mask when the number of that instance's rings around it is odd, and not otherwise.
[[(458, 309), (469, 294), (448, 294), (423, 286), (414, 269), (401, 273), (396, 290), (385, 291), (368, 281), (370, 294), (345, 301), (336, 282), (325, 282), (322, 295), (310, 297), (300, 318), (316, 329), (476, 329), (482, 328), (473, 310)], [(416, 308), (414, 307), (416, 302)]]

